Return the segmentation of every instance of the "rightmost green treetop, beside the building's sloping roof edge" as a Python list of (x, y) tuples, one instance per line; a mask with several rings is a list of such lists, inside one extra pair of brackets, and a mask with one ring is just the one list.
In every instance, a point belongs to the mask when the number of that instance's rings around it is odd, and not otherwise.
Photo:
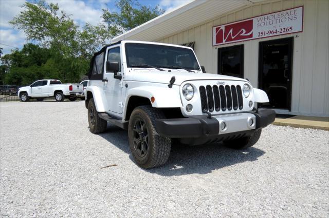
[(139, 4), (136, 0), (119, 0), (115, 5), (119, 13), (103, 9), (102, 15), (112, 36), (131, 30), (165, 12), (158, 5), (151, 8)]

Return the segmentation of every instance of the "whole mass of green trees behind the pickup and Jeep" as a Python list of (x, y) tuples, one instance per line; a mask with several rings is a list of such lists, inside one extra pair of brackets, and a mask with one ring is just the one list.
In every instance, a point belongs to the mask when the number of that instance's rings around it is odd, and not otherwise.
[(79, 82), (88, 72), (93, 53), (112, 37), (164, 12), (158, 6), (142, 6), (135, 0), (119, 0), (116, 6), (119, 13), (103, 10), (103, 23), (80, 27), (58, 4), (44, 0), (25, 2), (19, 15), (9, 23), (23, 30), (27, 40), (37, 45), (29, 43), (20, 51), (2, 56), (0, 80), (16, 85), (43, 78)]

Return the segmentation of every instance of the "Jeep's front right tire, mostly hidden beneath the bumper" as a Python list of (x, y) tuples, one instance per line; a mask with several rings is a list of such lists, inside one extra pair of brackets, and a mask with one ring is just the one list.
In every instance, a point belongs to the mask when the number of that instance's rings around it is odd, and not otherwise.
[(237, 138), (236, 140), (229, 140), (224, 141), (224, 145), (229, 148), (234, 149), (245, 149), (253, 146), (257, 143), (262, 133), (262, 129), (256, 130), (252, 135), (243, 137), (243, 138)]

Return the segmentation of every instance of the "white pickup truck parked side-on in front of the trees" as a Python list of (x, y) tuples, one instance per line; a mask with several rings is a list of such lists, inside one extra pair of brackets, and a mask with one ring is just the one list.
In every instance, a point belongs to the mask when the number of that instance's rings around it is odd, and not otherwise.
[(76, 101), (77, 97), (83, 97), (83, 93), (82, 84), (62, 84), (60, 80), (38, 80), (20, 88), (18, 96), (22, 102), (27, 102), (31, 98), (42, 101), (46, 97), (54, 97), (57, 102), (62, 102), (65, 97), (70, 101)]

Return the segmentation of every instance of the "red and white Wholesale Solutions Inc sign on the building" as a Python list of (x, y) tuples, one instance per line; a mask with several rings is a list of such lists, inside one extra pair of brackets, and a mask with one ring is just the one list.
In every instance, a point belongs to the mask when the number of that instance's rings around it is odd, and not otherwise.
[(212, 28), (212, 45), (303, 31), (303, 6), (244, 19)]

